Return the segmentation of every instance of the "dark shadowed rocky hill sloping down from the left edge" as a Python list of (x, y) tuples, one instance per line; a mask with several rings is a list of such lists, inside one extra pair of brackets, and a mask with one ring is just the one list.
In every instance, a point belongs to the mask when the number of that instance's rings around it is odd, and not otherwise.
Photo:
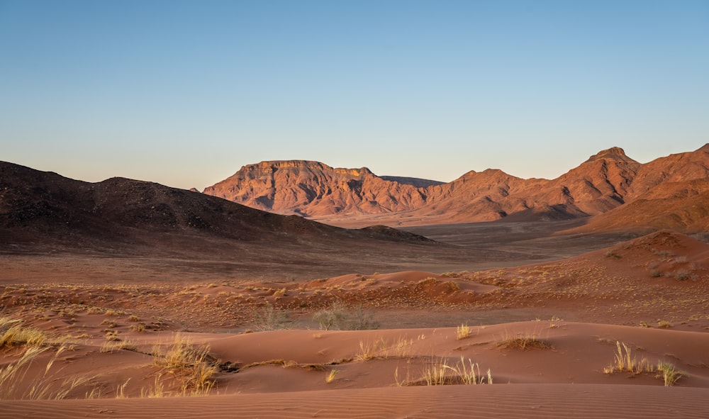
[[(367, 243), (430, 245), (421, 236), (379, 226), (347, 230), (281, 216), (199, 192), (147, 181), (77, 181), (0, 162), (0, 250), (82, 250), (146, 254), (233, 253), (274, 243), (301, 253), (350, 251)], [(434, 243), (435, 244), (435, 243)], [(260, 246), (260, 247), (259, 247)]]

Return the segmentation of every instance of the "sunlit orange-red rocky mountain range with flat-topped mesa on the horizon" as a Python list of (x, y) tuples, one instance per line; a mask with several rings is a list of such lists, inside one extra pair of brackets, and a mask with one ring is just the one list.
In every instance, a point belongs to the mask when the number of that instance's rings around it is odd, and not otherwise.
[[(376, 220), (388, 225), (552, 220), (598, 216), (615, 208), (630, 208), (627, 211), (637, 212), (632, 222), (603, 221), (604, 228), (655, 223), (672, 224), (687, 231), (702, 229), (705, 223), (701, 220), (702, 211), (696, 208), (707, 208), (698, 199), (706, 196), (699, 184), (708, 177), (709, 145), (646, 164), (627, 157), (620, 147), (613, 147), (552, 180), (520, 179), (501, 170), (487, 169), (467, 172), (454, 181), (441, 183), (379, 177), (366, 167), (336, 169), (320, 162), (286, 160), (249, 164), (203, 193), (325, 223), (355, 219), (363, 224)], [(686, 184), (694, 180), (697, 182)], [(675, 189), (685, 190), (683, 195), (678, 193), (686, 197), (685, 201), (694, 203), (691, 215), (655, 214), (651, 220), (642, 209), (632, 209), (640, 204), (626, 205), (669, 199), (676, 195)], [(673, 206), (662, 207), (662, 211), (672, 213)], [(630, 216), (621, 218), (627, 217)], [(671, 223), (667, 217), (679, 220)]]

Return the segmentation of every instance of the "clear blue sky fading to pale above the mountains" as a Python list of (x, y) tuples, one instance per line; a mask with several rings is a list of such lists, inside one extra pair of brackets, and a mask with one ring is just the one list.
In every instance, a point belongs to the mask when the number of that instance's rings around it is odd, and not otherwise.
[(705, 0), (0, 0), (0, 160), (74, 179), (554, 178), (708, 142)]

